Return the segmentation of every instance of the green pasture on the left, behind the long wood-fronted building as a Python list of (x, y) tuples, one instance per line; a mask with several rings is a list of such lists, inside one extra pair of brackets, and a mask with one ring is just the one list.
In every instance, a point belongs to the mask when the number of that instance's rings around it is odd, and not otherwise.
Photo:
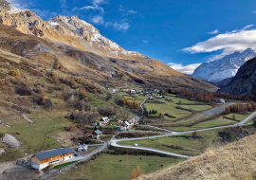
[[(0, 161), (14, 160), (40, 150), (60, 148), (61, 144), (50, 135), (64, 132), (64, 126), (67, 126), (68, 123), (68, 119), (64, 116), (64, 112), (56, 111), (49, 114), (45, 110), (39, 109), (27, 115), (34, 122), (32, 124), (21, 117), (17, 117), (18, 120), (16, 120), (11, 115), (7, 116), (5, 121), (8, 122), (10, 128), (0, 126), (0, 133), (16, 136), (23, 145), (19, 149), (12, 149), (0, 142), (0, 148), (4, 148), (6, 151), (0, 156)], [(20, 135), (17, 135), (17, 132)]]

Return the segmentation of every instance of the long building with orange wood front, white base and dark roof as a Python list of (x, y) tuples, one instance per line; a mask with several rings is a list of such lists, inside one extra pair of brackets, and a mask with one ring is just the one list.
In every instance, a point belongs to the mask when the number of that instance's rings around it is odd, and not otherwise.
[(43, 153), (36, 153), (31, 157), (31, 167), (36, 170), (43, 170), (47, 166), (64, 162), (74, 157), (71, 148), (61, 148)]

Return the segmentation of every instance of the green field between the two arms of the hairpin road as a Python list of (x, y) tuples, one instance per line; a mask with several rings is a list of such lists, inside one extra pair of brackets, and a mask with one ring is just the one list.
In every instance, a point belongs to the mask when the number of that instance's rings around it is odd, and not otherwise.
[(203, 137), (201, 139), (189, 139), (186, 135), (172, 135), (154, 139), (122, 141), (119, 144), (134, 146), (137, 143), (140, 147), (149, 147), (170, 153), (200, 154), (201, 151), (216, 145), (213, 141), (219, 138), (217, 134), (219, 131), (221, 130), (198, 132), (198, 135)]

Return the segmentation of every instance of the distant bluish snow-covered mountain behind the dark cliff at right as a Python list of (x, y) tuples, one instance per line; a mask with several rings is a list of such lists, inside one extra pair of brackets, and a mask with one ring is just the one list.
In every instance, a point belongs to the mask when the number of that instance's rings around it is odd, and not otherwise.
[(223, 81), (234, 77), (244, 63), (255, 57), (256, 53), (251, 48), (247, 48), (242, 53), (235, 51), (233, 54), (227, 55), (220, 60), (202, 63), (194, 70), (192, 76), (210, 82)]

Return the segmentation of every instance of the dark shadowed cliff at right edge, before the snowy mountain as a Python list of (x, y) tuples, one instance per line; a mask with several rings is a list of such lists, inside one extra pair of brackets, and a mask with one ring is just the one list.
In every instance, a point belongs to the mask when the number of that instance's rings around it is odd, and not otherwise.
[(242, 65), (235, 77), (219, 92), (231, 95), (250, 95), (256, 89), (256, 58)]

